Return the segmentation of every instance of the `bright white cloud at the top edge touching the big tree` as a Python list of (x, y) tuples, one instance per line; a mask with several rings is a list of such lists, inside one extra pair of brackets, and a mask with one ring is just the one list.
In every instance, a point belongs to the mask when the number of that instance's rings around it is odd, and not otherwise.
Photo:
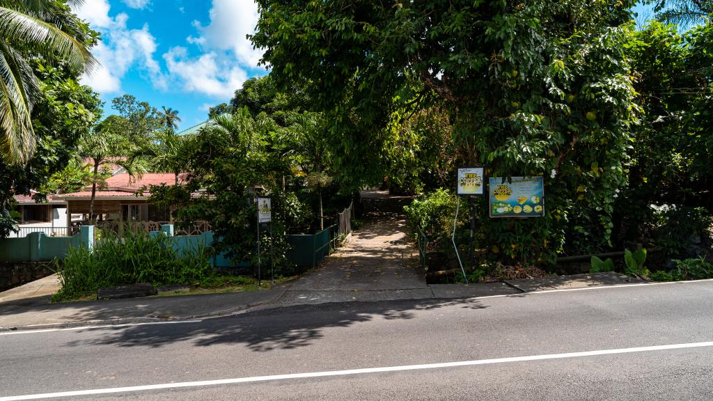
[(238, 61), (251, 68), (257, 67), (262, 50), (252, 49), (247, 34), (255, 33), (260, 14), (254, 0), (213, 0), (210, 8), (210, 24), (194, 25), (201, 33), (199, 39), (190, 43), (200, 43), (210, 49), (232, 51)]

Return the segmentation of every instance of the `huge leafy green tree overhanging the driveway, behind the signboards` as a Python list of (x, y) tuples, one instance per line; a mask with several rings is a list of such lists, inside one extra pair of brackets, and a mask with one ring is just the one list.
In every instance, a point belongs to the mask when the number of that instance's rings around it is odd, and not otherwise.
[(545, 218), (491, 220), (481, 203), (482, 245), (521, 263), (608, 247), (640, 110), (625, 52), (635, 1), (257, 3), (252, 41), (277, 85), (304, 84), (324, 111), (340, 173), (374, 176), (394, 111), (441, 102), (466, 163), (545, 176)]

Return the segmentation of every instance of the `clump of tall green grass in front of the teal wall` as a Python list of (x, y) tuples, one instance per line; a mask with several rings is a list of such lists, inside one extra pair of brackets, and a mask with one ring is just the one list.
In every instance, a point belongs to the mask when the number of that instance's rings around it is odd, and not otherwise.
[(216, 273), (205, 246), (178, 252), (171, 238), (127, 230), (125, 236), (103, 235), (93, 250), (70, 248), (57, 264), (61, 290), (53, 300), (68, 300), (102, 287), (134, 283), (200, 284)]

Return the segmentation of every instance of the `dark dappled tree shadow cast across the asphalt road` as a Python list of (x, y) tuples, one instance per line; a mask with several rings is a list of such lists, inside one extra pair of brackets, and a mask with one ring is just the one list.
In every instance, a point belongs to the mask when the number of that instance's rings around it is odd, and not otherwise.
[[(422, 310), (460, 306), (486, 308), (478, 300), (403, 300), (388, 303), (331, 303), (263, 310), (245, 315), (180, 325), (140, 325), (87, 329), (100, 335), (92, 340), (68, 342), (68, 346), (114, 345), (118, 347), (162, 347), (175, 342), (192, 342), (196, 347), (242, 344), (255, 352), (289, 350), (313, 345), (329, 328), (349, 328), (383, 318), (412, 319)], [(111, 333), (106, 333), (111, 330)], [(106, 333), (102, 335), (103, 333)]]

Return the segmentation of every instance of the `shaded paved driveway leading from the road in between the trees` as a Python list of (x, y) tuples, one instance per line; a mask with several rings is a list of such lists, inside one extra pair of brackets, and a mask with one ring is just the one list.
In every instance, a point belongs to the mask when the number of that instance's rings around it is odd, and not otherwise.
[(404, 205), (411, 198), (370, 191), (362, 199), (364, 225), (319, 268), (287, 285), (280, 303), (433, 296), (418, 271), (418, 251), (406, 238)]

